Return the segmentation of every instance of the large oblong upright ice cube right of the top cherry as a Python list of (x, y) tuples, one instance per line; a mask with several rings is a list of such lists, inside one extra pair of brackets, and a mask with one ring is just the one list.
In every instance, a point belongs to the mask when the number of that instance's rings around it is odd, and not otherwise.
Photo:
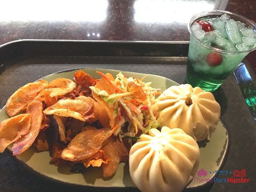
[(242, 38), (236, 26), (236, 22), (233, 19), (227, 20), (225, 23), (225, 29), (228, 34), (228, 39), (233, 44), (238, 44), (242, 42)]

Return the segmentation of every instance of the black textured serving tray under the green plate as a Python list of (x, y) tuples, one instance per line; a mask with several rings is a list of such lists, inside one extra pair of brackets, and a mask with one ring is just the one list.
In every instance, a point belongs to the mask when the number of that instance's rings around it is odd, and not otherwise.
[[(188, 42), (19, 40), (0, 46), (0, 108), (20, 86), (71, 68), (107, 68), (156, 74), (185, 83)], [(215, 183), (200, 191), (255, 191), (256, 129), (246, 105), (255, 80), (244, 61), (214, 92), (229, 132), (230, 150), (222, 170), (247, 170), (249, 184)], [(248, 72), (248, 73), (247, 73)], [(237, 83), (237, 81), (239, 84)], [(242, 90), (242, 92), (240, 91)], [(243, 94), (242, 94), (243, 93)], [(254, 116), (254, 118), (252, 118)], [(40, 165), (39, 165), (40, 166)], [(224, 176), (219, 176), (224, 178)], [(212, 188), (211, 188), (212, 187)], [(84, 191), (29, 172), (8, 152), (0, 154), (0, 191)], [(96, 189), (97, 190), (97, 189)]]

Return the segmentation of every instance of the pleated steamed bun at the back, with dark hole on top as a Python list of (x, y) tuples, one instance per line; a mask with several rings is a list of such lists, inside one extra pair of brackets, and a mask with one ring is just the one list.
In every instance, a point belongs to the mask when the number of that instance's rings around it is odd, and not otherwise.
[(213, 94), (190, 84), (171, 86), (153, 108), (161, 126), (181, 128), (196, 141), (210, 139), (220, 119), (220, 105)]

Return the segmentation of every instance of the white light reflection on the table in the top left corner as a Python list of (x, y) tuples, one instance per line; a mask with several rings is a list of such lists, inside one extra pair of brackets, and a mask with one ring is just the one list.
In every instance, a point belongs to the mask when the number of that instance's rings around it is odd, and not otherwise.
[(106, 19), (107, 0), (8, 0), (1, 2), (0, 21), (84, 21)]

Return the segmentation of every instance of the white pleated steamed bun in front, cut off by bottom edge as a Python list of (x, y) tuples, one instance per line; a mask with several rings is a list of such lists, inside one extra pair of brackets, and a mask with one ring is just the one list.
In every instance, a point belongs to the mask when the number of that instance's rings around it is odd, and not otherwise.
[(142, 192), (180, 192), (196, 174), (199, 158), (198, 144), (182, 129), (153, 128), (130, 149), (130, 175)]

